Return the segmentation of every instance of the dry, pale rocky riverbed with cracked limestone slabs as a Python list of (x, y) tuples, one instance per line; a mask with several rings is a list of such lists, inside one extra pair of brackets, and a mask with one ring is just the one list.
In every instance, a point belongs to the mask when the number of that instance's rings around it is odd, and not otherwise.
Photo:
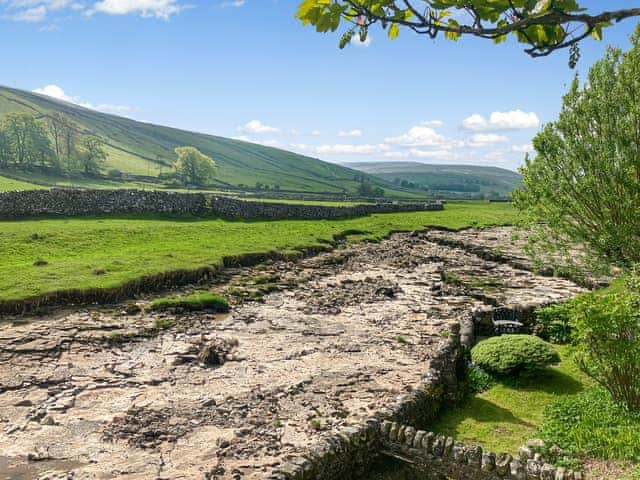
[(228, 273), (226, 316), (0, 324), (0, 479), (266, 478), (410, 391), (470, 311), (582, 291), (429, 234)]

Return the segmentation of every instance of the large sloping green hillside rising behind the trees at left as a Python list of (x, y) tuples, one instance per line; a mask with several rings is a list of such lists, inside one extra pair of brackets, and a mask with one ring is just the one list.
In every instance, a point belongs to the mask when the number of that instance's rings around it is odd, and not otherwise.
[[(30, 112), (45, 118), (53, 112), (66, 115), (84, 134), (98, 135), (107, 143), (105, 170), (117, 169), (132, 175), (157, 177), (166, 173), (175, 158), (174, 148), (194, 146), (213, 157), (218, 164), (217, 188), (255, 186), (261, 182), (273, 188), (299, 192), (343, 190), (354, 193), (359, 172), (318, 159), (252, 143), (175, 128), (137, 122), (107, 115), (50, 97), (22, 90), (0, 87), (0, 117), (9, 112)], [(2, 173), (2, 172), (0, 172)], [(56, 183), (61, 179), (51, 179)], [(387, 190), (388, 195), (415, 197), (415, 190), (402, 189), (384, 180), (372, 183)]]

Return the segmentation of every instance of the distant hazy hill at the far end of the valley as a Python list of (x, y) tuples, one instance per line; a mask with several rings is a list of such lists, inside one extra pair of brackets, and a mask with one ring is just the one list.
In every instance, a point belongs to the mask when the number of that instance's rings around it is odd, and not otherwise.
[(413, 183), (435, 196), (448, 198), (503, 197), (522, 184), (520, 174), (498, 167), (418, 162), (365, 162), (348, 166), (395, 184)]

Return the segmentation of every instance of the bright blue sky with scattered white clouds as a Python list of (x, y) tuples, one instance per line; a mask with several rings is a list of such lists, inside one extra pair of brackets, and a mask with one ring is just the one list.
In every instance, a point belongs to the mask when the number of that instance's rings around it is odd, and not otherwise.
[[(0, 84), (332, 162), (515, 169), (574, 74), (567, 52), (531, 59), (511, 40), (373, 31), (340, 51), (339, 34), (294, 19), (298, 3), (0, 0)], [(627, 46), (636, 23), (584, 42), (578, 71)]]

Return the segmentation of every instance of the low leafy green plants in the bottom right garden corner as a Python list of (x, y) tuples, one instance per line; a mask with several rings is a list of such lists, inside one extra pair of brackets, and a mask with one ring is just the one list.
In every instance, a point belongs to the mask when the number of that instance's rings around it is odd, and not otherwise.
[(603, 388), (585, 390), (547, 407), (541, 437), (568, 456), (640, 462), (640, 415), (613, 402)]

